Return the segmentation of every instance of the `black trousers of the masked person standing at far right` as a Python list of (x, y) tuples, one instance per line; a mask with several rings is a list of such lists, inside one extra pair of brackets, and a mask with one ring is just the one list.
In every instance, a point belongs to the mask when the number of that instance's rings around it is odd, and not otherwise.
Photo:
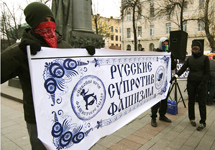
[[(187, 83), (188, 91), (188, 117), (190, 120), (195, 120), (195, 101), (199, 104), (200, 123), (205, 124), (206, 121), (206, 99), (207, 99), (207, 84), (201, 85), (201, 82)], [(200, 89), (198, 89), (200, 88)], [(198, 91), (197, 91), (198, 89)]]

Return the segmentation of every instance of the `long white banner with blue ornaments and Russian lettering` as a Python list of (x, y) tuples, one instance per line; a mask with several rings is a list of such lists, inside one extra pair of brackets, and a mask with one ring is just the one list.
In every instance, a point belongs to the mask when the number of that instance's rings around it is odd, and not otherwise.
[(42, 48), (28, 57), (38, 137), (52, 150), (89, 149), (164, 99), (171, 79), (166, 52)]

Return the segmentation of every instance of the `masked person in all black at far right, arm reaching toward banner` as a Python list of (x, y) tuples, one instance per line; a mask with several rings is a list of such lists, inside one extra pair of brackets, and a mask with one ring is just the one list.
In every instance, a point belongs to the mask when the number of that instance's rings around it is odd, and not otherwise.
[[(188, 117), (192, 126), (196, 126), (195, 122), (195, 100), (199, 104), (200, 118), (198, 131), (206, 127), (206, 100), (207, 86), (210, 76), (210, 64), (207, 56), (203, 55), (202, 44), (199, 41), (192, 43), (192, 55), (188, 57), (184, 65), (175, 74), (171, 81), (177, 79), (189, 67), (190, 72), (187, 79), (188, 91)], [(196, 99), (197, 98), (197, 99)]]

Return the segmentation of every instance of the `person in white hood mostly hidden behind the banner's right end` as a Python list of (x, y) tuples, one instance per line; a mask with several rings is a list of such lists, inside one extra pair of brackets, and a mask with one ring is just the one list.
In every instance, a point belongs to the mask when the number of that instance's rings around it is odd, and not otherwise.
[[(158, 48), (156, 49), (156, 51), (158, 52), (168, 51), (168, 44), (169, 44), (169, 40), (166, 37), (160, 38), (158, 43)], [(165, 116), (167, 112), (167, 98), (165, 98), (151, 108), (151, 113), (152, 113), (151, 125), (153, 127), (157, 127), (156, 118), (157, 118), (158, 109), (159, 109), (159, 115), (160, 115), (159, 120), (165, 121), (165, 122), (172, 122), (169, 118)]]

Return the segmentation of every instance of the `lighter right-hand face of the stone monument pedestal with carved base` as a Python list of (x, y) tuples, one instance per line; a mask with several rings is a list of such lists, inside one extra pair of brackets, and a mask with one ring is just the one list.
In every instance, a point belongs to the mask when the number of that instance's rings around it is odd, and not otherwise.
[[(101, 35), (94, 34), (92, 30), (91, 0), (73, 0), (72, 46), (85, 47), (93, 45), (103, 47)], [(82, 43), (80, 43), (82, 41)]]

